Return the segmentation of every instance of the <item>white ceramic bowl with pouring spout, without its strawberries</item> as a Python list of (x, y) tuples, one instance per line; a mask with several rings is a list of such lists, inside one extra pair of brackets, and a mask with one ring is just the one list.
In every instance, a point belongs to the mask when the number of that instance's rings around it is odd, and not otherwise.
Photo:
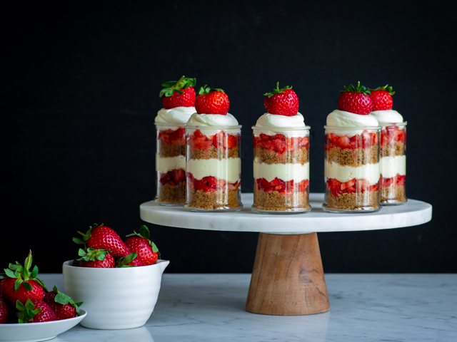
[(162, 273), (170, 261), (119, 269), (63, 266), (65, 293), (84, 301), (88, 311), (81, 326), (93, 329), (129, 329), (143, 326), (159, 296)]

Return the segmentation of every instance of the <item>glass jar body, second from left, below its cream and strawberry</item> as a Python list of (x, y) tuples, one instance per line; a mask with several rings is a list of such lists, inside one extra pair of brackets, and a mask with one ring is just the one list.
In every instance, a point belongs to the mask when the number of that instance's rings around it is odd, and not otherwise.
[(236, 211), (241, 203), (241, 125), (186, 125), (189, 211)]

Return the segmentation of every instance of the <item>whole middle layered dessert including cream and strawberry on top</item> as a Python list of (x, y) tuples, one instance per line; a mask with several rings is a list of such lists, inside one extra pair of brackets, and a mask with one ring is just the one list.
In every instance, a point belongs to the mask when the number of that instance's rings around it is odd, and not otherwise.
[(298, 113), (298, 97), (286, 86), (266, 96), (267, 113), (253, 129), (253, 176), (256, 213), (308, 212), (309, 127)]

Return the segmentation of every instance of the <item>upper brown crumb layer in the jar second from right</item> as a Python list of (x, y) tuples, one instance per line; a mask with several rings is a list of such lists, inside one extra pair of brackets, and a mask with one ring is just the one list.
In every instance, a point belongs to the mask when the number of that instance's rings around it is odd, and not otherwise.
[(379, 162), (379, 145), (372, 145), (370, 148), (348, 149), (331, 147), (326, 151), (326, 160), (336, 162), (341, 166), (358, 167), (366, 164)]

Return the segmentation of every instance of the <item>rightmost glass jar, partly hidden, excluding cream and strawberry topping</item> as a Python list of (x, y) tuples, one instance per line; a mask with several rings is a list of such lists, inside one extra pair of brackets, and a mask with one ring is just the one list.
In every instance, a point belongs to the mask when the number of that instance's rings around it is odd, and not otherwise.
[(406, 123), (381, 125), (380, 198), (383, 205), (406, 203)]

